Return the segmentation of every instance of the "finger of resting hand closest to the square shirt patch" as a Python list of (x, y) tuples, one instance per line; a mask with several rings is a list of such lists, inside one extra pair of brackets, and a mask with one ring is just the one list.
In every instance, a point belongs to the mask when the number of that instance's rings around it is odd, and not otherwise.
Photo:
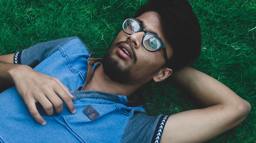
[(65, 104), (68, 106), (70, 112), (75, 113), (76, 112), (75, 105), (74, 105), (70, 95), (67, 94), (67, 92), (64, 91), (62, 88), (61, 89), (55, 88), (55, 92), (63, 100), (63, 102), (65, 102)]

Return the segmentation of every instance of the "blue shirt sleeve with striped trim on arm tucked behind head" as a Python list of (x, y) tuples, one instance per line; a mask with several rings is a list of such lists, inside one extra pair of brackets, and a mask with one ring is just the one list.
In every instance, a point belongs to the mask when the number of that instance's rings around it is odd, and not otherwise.
[(145, 113), (133, 115), (126, 125), (121, 142), (160, 142), (168, 117), (151, 117)]

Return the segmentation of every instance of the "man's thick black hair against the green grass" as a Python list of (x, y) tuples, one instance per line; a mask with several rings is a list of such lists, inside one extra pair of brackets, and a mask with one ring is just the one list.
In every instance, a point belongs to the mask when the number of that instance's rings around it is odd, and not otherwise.
[(173, 49), (168, 67), (177, 71), (196, 60), (201, 51), (201, 29), (191, 5), (185, 0), (149, 0), (135, 14), (155, 11), (160, 15), (163, 35)]

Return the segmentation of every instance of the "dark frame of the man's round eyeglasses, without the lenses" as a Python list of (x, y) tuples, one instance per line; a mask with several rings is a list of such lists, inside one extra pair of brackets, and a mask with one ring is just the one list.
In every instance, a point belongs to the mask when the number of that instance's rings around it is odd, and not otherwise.
[[(155, 35), (155, 34), (153, 34), (153, 33), (150, 33), (150, 32), (147, 32), (147, 31), (142, 27), (141, 23), (140, 23), (138, 20), (136, 20), (135, 18), (126, 18), (126, 19), (124, 19), (124, 21), (123, 21), (123, 23), (122, 23), (122, 30), (123, 30), (124, 33), (126, 33), (126, 34), (128, 34), (128, 35), (132, 35), (132, 34), (130, 34), (130, 33), (125, 32), (125, 31), (124, 31), (124, 28), (123, 28), (124, 22), (125, 22), (127, 19), (133, 19), (133, 20), (135, 20), (137, 23), (139, 23), (139, 25), (140, 25), (140, 30), (139, 30), (138, 32), (144, 32), (144, 33), (145, 33), (144, 36), (143, 36), (143, 38), (142, 38), (142, 45), (143, 45), (143, 47), (144, 47), (147, 51), (155, 52), (155, 51), (158, 51), (158, 50), (160, 50), (160, 49), (163, 49), (163, 51), (164, 51), (165, 64), (166, 64), (166, 66), (167, 66), (167, 65), (168, 65), (168, 57), (167, 57), (167, 52), (166, 52), (166, 48), (165, 48), (165, 45), (164, 45), (163, 41), (162, 41), (157, 35)], [(138, 32), (135, 32), (135, 33), (138, 33)], [(133, 33), (133, 34), (134, 34), (134, 33)], [(148, 49), (145, 47), (143, 40), (144, 40), (145, 36), (148, 35), (148, 34), (151, 34), (151, 35), (157, 37), (158, 40), (161, 42), (161, 47), (160, 47), (159, 49), (151, 51), (151, 50), (148, 50)]]

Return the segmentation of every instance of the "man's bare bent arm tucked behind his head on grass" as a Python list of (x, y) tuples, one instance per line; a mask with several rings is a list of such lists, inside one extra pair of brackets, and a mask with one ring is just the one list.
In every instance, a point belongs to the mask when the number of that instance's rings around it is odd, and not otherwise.
[(239, 125), (250, 104), (218, 80), (190, 67), (170, 77), (205, 108), (176, 113), (168, 118), (161, 142), (204, 142)]

